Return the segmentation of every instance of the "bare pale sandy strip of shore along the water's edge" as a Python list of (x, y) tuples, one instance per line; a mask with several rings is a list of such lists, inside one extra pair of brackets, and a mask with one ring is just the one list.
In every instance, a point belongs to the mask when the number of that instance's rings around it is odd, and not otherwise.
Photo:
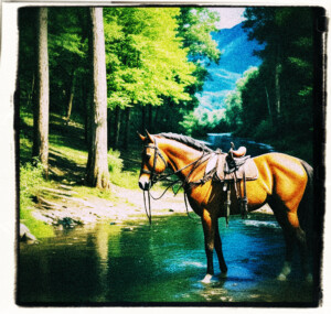
[[(146, 216), (143, 196), (139, 190), (127, 190), (113, 185), (114, 201), (96, 196), (79, 198), (70, 185), (61, 185), (57, 188), (43, 188), (42, 192), (42, 196), (38, 197), (33, 216), (58, 229), (98, 221), (120, 224), (125, 220), (141, 219)], [(161, 191), (153, 191), (152, 194), (158, 196)], [(152, 216), (186, 213), (182, 193), (174, 196), (171, 192), (168, 192), (160, 201), (151, 199), (151, 208)], [(258, 212), (273, 213), (268, 206), (264, 206)], [(190, 207), (189, 213), (196, 216)]]

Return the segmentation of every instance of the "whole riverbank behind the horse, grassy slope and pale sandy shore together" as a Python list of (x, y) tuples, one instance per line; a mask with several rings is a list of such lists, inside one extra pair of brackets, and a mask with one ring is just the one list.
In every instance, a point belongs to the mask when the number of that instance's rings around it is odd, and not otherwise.
[[(20, 223), (36, 238), (52, 237), (54, 230), (107, 221), (122, 224), (136, 218), (148, 218), (142, 192), (138, 190), (141, 148), (109, 150), (109, 191), (85, 186), (87, 150), (84, 128), (77, 122), (64, 123), (51, 116), (50, 175), (31, 164), (32, 116), (23, 116), (20, 139)], [(158, 196), (164, 186), (154, 186)], [(175, 197), (169, 191), (160, 201), (151, 199), (152, 216), (185, 214), (183, 194)], [(192, 212), (189, 208), (189, 212)], [(269, 214), (266, 207), (259, 212)], [(197, 217), (195, 214), (192, 216)]]

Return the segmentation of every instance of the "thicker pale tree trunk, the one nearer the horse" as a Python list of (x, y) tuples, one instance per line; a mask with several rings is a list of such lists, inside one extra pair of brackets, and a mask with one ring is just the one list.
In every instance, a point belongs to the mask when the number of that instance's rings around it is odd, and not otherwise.
[(92, 143), (88, 151), (87, 184), (109, 187), (107, 161), (107, 82), (103, 8), (90, 8), (93, 56)]

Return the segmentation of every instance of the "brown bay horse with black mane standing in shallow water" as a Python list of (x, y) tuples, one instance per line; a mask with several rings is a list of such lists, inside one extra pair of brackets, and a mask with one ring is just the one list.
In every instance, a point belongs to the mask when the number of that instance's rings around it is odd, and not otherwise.
[[(218, 218), (225, 217), (224, 204), (228, 199), (224, 192), (224, 183), (202, 180), (213, 151), (201, 141), (181, 134), (151, 136), (147, 131), (146, 137), (141, 134), (139, 137), (145, 145), (139, 187), (142, 191), (149, 191), (156, 176), (162, 174), (167, 167), (179, 176), (189, 204), (201, 217), (203, 226), (207, 267), (202, 281), (211, 282), (214, 275), (214, 249), (218, 258), (221, 275), (226, 277), (227, 266), (222, 250)], [(235, 154), (236, 151), (233, 153)], [(270, 152), (253, 160), (258, 170), (258, 177), (255, 181), (247, 181), (245, 186), (248, 213), (268, 204), (284, 231), (286, 256), (277, 278), (286, 280), (291, 272), (293, 247), (297, 243), (303, 274), (307, 280), (311, 281), (312, 275), (308, 270), (308, 241), (303, 227), (311, 223), (309, 213), (312, 207), (310, 201), (313, 170), (307, 162), (284, 153)], [(243, 181), (238, 185), (244, 188)], [(236, 197), (234, 184), (229, 188), (229, 215), (238, 215), (241, 204)]]

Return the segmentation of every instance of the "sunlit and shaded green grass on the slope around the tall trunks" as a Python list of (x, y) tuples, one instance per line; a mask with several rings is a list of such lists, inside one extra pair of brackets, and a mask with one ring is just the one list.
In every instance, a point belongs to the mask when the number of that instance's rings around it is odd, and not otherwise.
[[(32, 163), (32, 134), (33, 116), (23, 111), (20, 116), (20, 220), (36, 238), (51, 237), (54, 234), (51, 226), (36, 220), (32, 215), (41, 186), (57, 188), (60, 184), (70, 183), (78, 193), (77, 197), (93, 195), (116, 202), (111, 188), (104, 191), (84, 185), (88, 153), (82, 124), (74, 122), (66, 126), (60, 116), (51, 115), (49, 181), (43, 176), (42, 166), (34, 166)], [(122, 158), (119, 151), (109, 150), (108, 166), (113, 184), (130, 190), (138, 188), (140, 162), (137, 158), (132, 159), (132, 155), (138, 154), (136, 151), (127, 152)]]

